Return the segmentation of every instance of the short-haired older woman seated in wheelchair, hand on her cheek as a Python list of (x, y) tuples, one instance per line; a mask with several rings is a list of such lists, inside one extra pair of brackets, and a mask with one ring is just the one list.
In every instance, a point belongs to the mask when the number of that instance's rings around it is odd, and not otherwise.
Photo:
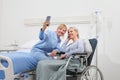
[[(68, 44), (69, 41), (73, 42)], [(38, 63), (36, 70), (37, 80), (65, 80), (66, 70), (62, 66), (66, 64), (66, 59), (72, 53), (84, 52), (83, 40), (79, 38), (78, 30), (74, 27), (68, 29), (68, 37), (61, 46), (61, 51), (65, 52), (57, 60), (43, 60)], [(66, 58), (66, 59), (65, 59)]]

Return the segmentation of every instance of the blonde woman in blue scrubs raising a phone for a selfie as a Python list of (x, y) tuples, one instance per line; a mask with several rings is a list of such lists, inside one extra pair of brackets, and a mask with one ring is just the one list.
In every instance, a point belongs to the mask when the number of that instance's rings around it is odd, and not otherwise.
[(31, 50), (31, 55), (37, 60), (51, 59), (60, 50), (60, 37), (64, 36), (67, 31), (65, 24), (60, 24), (56, 31), (46, 29), (50, 24), (49, 21), (43, 23), (40, 29), (40, 41), (35, 44)]

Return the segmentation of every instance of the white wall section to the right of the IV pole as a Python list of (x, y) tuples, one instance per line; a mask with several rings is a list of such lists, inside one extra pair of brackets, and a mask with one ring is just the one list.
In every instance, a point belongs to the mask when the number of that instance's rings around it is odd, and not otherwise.
[(99, 66), (101, 67), (105, 80), (120, 79), (120, 9), (118, 0), (101, 0), (99, 8), (103, 16), (103, 33), (104, 44), (103, 54), (99, 54)]

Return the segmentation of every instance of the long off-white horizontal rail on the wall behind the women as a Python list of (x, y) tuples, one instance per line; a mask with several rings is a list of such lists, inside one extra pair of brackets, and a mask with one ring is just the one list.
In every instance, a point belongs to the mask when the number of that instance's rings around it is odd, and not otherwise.
[[(28, 18), (24, 20), (26, 26), (41, 26), (46, 17)], [(94, 14), (87, 16), (70, 16), (70, 17), (51, 17), (50, 25), (65, 24), (92, 24), (96, 22)]]

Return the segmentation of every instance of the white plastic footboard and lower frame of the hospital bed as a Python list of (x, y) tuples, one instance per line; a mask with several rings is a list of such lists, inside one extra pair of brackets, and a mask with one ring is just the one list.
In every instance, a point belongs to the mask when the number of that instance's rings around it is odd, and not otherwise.
[(34, 71), (23, 72), (22, 74), (14, 74), (12, 60), (9, 57), (0, 55), (0, 61), (1, 60), (6, 60), (9, 64), (8, 67), (5, 67), (0, 62), (0, 71), (3, 71), (4, 73), (3, 80), (23, 80), (23, 78), (26, 78), (25, 80), (33, 80), (33, 75), (31, 74), (33, 74)]

